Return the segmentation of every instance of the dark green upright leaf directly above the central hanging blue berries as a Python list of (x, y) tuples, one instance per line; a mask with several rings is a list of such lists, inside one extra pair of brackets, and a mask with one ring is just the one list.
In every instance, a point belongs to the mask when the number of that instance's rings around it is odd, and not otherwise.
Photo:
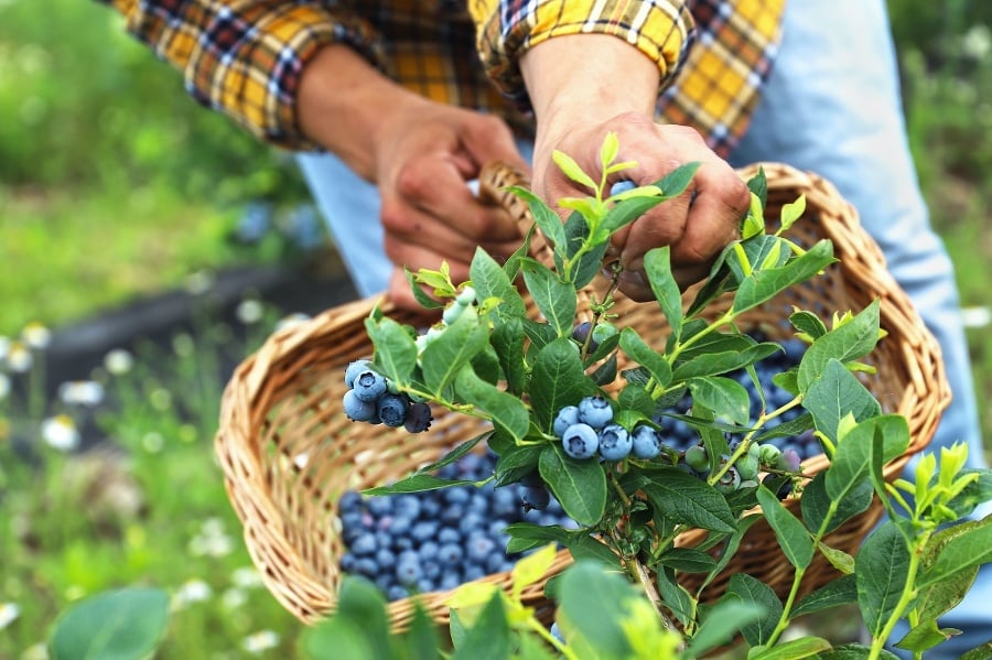
[(535, 419), (543, 431), (551, 430), (559, 410), (565, 405), (576, 405), (582, 397), (594, 391), (571, 339), (556, 339), (537, 354), (529, 393)]

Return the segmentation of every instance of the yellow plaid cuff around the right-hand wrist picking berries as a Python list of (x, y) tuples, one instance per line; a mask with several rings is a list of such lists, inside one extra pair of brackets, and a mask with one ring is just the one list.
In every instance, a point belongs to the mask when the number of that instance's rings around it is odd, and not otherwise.
[(600, 33), (623, 39), (655, 62), (666, 86), (686, 56), (692, 17), (679, 0), (473, 0), (477, 47), (487, 75), (509, 98), (527, 104), (518, 62), (556, 36)]

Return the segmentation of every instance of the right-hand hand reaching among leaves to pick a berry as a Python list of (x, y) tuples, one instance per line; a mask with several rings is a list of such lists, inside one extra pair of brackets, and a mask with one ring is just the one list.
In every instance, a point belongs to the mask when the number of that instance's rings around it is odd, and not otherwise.
[[(549, 131), (535, 153), (532, 188), (546, 201), (586, 196), (590, 191), (568, 178), (552, 162), (551, 152), (562, 151), (583, 171), (599, 180), (600, 145), (607, 132), (617, 134), (617, 162), (636, 162), (617, 177), (638, 185), (654, 183), (679, 165), (699, 162), (689, 188), (679, 197), (659, 204), (614, 235), (604, 264), (619, 261), (619, 289), (633, 300), (654, 293), (644, 273), (645, 253), (659, 246), (671, 248), (672, 275), (684, 288), (703, 279), (729, 242), (738, 237), (741, 218), (751, 195), (744, 181), (688, 127), (657, 125), (636, 112), (560, 133)], [(615, 181), (611, 180), (611, 183)]]

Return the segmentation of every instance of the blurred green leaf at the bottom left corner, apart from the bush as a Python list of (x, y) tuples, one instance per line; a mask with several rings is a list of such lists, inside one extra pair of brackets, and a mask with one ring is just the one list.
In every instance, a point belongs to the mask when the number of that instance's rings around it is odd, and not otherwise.
[(169, 624), (169, 594), (130, 587), (79, 601), (55, 621), (53, 660), (140, 660), (154, 652)]

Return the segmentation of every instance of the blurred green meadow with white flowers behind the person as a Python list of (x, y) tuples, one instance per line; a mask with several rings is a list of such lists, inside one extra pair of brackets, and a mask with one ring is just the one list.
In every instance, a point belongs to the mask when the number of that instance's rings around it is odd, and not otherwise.
[[(992, 3), (889, 11), (984, 402)], [(57, 613), (136, 584), (170, 595), (162, 658), (291, 656), (301, 626), (259, 587), (211, 441), (230, 364), (292, 310), (246, 292), (228, 322), (200, 305), (164, 343), (134, 337), (80, 380), (44, 377), (52, 333), (80, 320), (204, 272), (324, 259), (299, 173), (190, 100), (95, 2), (0, 0), (0, 657), (44, 657)]]

